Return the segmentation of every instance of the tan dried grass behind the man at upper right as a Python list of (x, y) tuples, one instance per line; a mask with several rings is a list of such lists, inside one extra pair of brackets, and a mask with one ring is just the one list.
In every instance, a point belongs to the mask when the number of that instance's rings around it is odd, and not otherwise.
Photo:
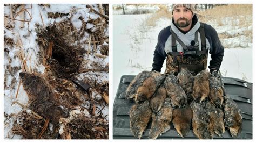
[[(233, 30), (252, 26), (252, 4), (228, 4), (224, 6), (216, 6), (213, 9), (199, 11), (198, 16), (200, 22), (209, 23), (212, 20), (217, 22), (218, 26), (230, 25)], [(227, 19), (228, 18), (228, 19)], [(240, 33), (252, 39), (252, 30)], [(231, 38), (237, 35), (228, 35), (221, 33), (220, 38)], [(252, 41), (252, 40), (251, 40)]]

